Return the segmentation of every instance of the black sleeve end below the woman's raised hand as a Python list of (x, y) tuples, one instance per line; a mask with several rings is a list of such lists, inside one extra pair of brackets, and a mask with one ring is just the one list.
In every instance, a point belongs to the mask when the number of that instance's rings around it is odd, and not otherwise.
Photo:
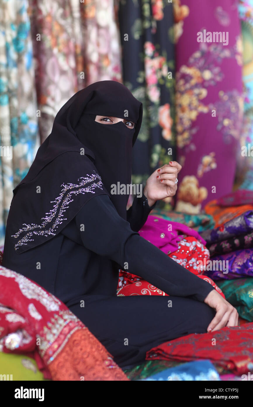
[(138, 232), (144, 225), (149, 215), (149, 212), (154, 209), (156, 203), (153, 206), (149, 206), (145, 195), (142, 197), (134, 197), (132, 206), (127, 210), (127, 221), (130, 223), (130, 227), (134, 232)]

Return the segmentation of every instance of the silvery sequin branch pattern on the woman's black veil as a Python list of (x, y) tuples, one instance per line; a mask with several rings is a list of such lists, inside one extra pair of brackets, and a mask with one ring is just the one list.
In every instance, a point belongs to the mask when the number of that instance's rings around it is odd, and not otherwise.
[(74, 201), (74, 195), (95, 193), (96, 188), (103, 188), (102, 179), (99, 174), (86, 174), (86, 177), (78, 178), (77, 184), (67, 183), (61, 184), (61, 193), (54, 201), (50, 201), (54, 204), (53, 208), (46, 212), (45, 217), (41, 218), (41, 224), (37, 225), (31, 223), (30, 225), (23, 223), (23, 228), (13, 235), (14, 238), (18, 238), (20, 234), (24, 234), (21, 239), (15, 244), (15, 250), (20, 246), (27, 245), (28, 242), (34, 241), (33, 237), (37, 236), (55, 236), (58, 227), (67, 220), (64, 217), (64, 212), (69, 208), (69, 204)]

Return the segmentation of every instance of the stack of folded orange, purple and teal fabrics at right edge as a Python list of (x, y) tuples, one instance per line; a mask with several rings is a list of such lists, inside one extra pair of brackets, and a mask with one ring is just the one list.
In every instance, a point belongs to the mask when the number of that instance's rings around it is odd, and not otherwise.
[[(237, 190), (205, 207), (216, 228), (200, 232), (210, 251), (204, 274), (223, 290), (239, 316), (253, 321), (253, 191)], [(242, 278), (247, 277), (247, 278)]]

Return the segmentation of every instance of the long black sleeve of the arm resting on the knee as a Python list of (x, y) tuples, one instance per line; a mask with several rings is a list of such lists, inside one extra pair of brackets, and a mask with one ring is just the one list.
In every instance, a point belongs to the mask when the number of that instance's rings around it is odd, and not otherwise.
[[(107, 195), (91, 198), (76, 215), (83, 245), (169, 295), (203, 301), (214, 289), (133, 232)], [(126, 269), (126, 265), (128, 269)]]

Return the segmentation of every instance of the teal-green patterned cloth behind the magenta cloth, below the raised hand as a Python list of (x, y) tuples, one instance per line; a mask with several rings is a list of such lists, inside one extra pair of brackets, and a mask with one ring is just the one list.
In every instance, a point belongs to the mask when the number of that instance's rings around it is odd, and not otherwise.
[(202, 232), (203, 230), (214, 228), (214, 218), (206, 213), (190, 215), (182, 212), (169, 212), (155, 208), (150, 212), (151, 215), (157, 216), (168, 221), (179, 222), (187, 225), (189, 228)]

